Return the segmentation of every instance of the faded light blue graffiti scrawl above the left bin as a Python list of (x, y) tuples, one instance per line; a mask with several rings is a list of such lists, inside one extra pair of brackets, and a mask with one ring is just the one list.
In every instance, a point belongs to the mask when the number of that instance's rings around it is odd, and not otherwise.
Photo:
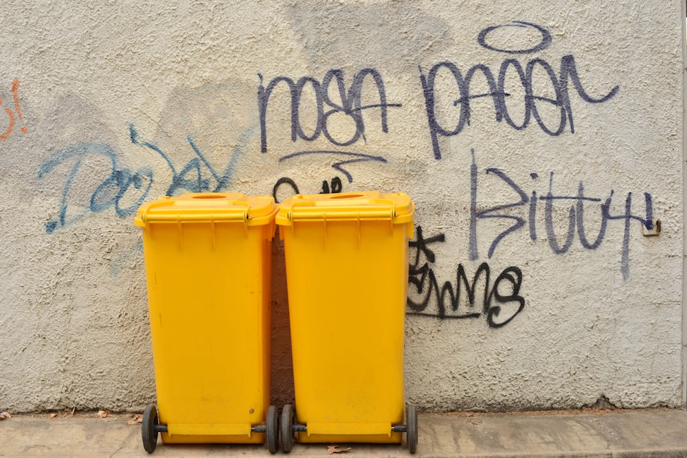
[[(216, 172), (212, 164), (207, 161), (190, 135), (186, 137), (186, 141), (188, 141), (194, 157), (180, 169), (174, 165), (170, 156), (157, 145), (150, 141), (141, 140), (133, 124), (129, 126), (129, 138), (132, 144), (146, 148), (148, 151), (153, 151), (164, 159), (172, 174), (166, 195), (173, 196), (184, 190), (187, 192), (219, 192), (225, 190), (234, 174), (234, 168), (240, 152), (254, 130), (254, 128), (245, 130), (236, 148), (234, 148), (224, 172), (221, 174)], [(109, 170), (106, 170), (106, 173), (109, 173), (109, 175), (95, 187), (91, 193), (87, 208), (81, 209), (77, 214), (68, 216), (70, 193), (74, 185), (76, 185), (75, 181), (78, 172), (89, 157), (106, 158), (109, 163)], [(45, 223), (45, 231), (47, 233), (53, 233), (56, 229), (76, 222), (88, 214), (101, 213), (111, 207), (114, 207), (115, 214), (120, 218), (131, 216), (148, 199), (150, 188), (155, 181), (153, 169), (149, 165), (144, 165), (137, 170), (123, 167), (117, 159), (117, 152), (111, 146), (98, 141), (71, 145), (56, 152), (41, 164), (38, 178), (43, 179), (58, 165), (64, 163), (71, 165), (71, 170), (67, 174), (67, 179), (63, 185), (58, 216)], [(210, 172), (209, 176), (205, 174), (204, 170)], [(123, 206), (122, 200), (124, 196), (130, 196), (133, 190), (139, 192), (138, 198), (131, 205)]]

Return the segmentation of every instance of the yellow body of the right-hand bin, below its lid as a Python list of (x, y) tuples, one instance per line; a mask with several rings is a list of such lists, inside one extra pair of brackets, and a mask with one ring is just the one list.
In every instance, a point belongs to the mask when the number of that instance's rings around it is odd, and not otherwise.
[[(379, 221), (294, 221), (286, 253), (297, 421), (373, 426), (363, 442), (401, 442), (408, 226)], [(326, 432), (326, 426), (324, 432)], [(355, 429), (355, 428), (354, 428)]]

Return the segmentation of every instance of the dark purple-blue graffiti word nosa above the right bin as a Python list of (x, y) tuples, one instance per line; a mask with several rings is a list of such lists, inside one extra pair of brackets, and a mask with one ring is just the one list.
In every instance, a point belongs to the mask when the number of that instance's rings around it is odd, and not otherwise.
[[(291, 95), (291, 141), (295, 142), (298, 139), (304, 141), (313, 141), (319, 137), (320, 134), (335, 146), (350, 146), (360, 139), (365, 141), (365, 122), (363, 121), (363, 110), (371, 108), (379, 108), (380, 122), (383, 133), (388, 132), (387, 126), (387, 111), (391, 107), (400, 107), (401, 104), (391, 104), (387, 102), (386, 89), (384, 82), (378, 71), (375, 69), (362, 69), (353, 76), (353, 80), (346, 91), (346, 83), (344, 82), (344, 73), (341, 69), (330, 69), (319, 82), (311, 76), (304, 76), (297, 82), (286, 76), (278, 76), (273, 78), (265, 88), (262, 84), (262, 75), (258, 73), (260, 78), (260, 86), (258, 87), (258, 111), (260, 113), (260, 150), (267, 152), (267, 105), (269, 98), (272, 95), (275, 87), (284, 83), (289, 87)], [(363, 105), (361, 102), (363, 92), (363, 82), (365, 78), (372, 78), (379, 94), (379, 104)], [(337, 91), (330, 91), (330, 84), (335, 84)], [(315, 95), (315, 111), (317, 112), (317, 122), (315, 122), (312, 133), (308, 135), (301, 125), (301, 98), (306, 86), (311, 88)], [(338, 93), (336, 100), (333, 100), (331, 93)], [(335, 138), (328, 129), (329, 118), (333, 115), (342, 115), (346, 117), (354, 128), (348, 138)]]

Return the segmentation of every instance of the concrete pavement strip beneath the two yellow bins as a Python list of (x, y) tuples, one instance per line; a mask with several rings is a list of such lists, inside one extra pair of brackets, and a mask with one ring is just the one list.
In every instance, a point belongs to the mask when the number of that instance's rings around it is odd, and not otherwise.
[[(547, 413), (423, 413), (417, 457), (687, 457), (682, 409)], [(270, 457), (267, 446), (166, 445), (148, 455), (131, 414), (49, 418), (13, 415), (0, 421), (1, 457)], [(292, 457), (327, 457), (328, 444), (295, 444)], [(343, 444), (339, 444), (343, 445)], [(332, 455), (409, 457), (405, 443), (349, 444)], [(275, 456), (283, 455), (278, 452)]]

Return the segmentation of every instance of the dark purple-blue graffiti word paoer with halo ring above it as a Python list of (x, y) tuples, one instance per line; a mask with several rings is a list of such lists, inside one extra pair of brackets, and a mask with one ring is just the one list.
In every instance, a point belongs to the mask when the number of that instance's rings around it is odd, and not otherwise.
[[(513, 25), (513, 24), (510, 24)], [(491, 49), (494, 51), (501, 51), (514, 54), (525, 54), (540, 51), (544, 47), (550, 44), (550, 34), (543, 27), (530, 23), (515, 23), (516, 26), (521, 27), (534, 27), (539, 30), (542, 35), (542, 42), (539, 45), (534, 46), (530, 49), (497, 49), (491, 45), (486, 44), (486, 36), (488, 34), (499, 28), (508, 25), (499, 25), (495, 27), (487, 27), (482, 30), (478, 41), (486, 49)], [(462, 132), (465, 126), (469, 126), (471, 122), (471, 107), (470, 101), (475, 98), (491, 97), (494, 104), (495, 117), (497, 122), (502, 122), (504, 119), (506, 124), (515, 130), (523, 130), (528, 127), (531, 122), (532, 117), (534, 121), (541, 130), (543, 130), (548, 135), (558, 136), (563, 133), (565, 126), (570, 123), (570, 133), (575, 132), (573, 113), (572, 113), (572, 102), (570, 100), (569, 84), (572, 82), (577, 95), (587, 103), (602, 103), (613, 98), (613, 96), (618, 93), (620, 89), (618, 86), (613, 87), (609, 93), (601, 96), (600, 98), (594, 98), (587, 94), (585, 88), (578, 76), (577, 64), (574, 56), (568, 54), (561, 58), (561, 65), (559, 67), (559, 73), (556, 76), (556, 72), (552, 65), (550, 65), (546, 60), (541, 58), (534, 58), (523, 65), (516, 59), (506, 59), (502, 62), (499, 68), (498, 77), (494, 77), (493, 71), (483, 64), (477, 64), (471, 67), (464, 75), (453, 62), (444, 61), (433, 65), (427, 74), (423, 70), (423, 67), (418, 67), (420, 71), (420, 82), (423, 87), (423, 94), (425, 95), (425, 108), (427, 111), (427, 121), (429, 123), (429, 134), (431, 137), (432, 151), (435, 159), (441, 159), (442, 154), (439, 146), (439, 137), (452, 137), (453, 135), (458, 135)], [(550, 82), (554, 98), (550, 98), (543, 95), (538, 95), (535, 93), (534, 87), (541, 87), (541, 84), (534, 84), (537, 79), (537, 69), (545, 73), (545, 78), (548, 78)], [(454, 116), (457, 117), (457, 121), (451, 128), (440, 125), (437, 119), (437, 100), (436, 100), (436, 89), (435, 83), (437, 76), (443, 77), (444, 73), (440, 73), (442, 70), (449, 71), (453, 79), (455, 80), (456, 87), (458, 89), (459, 98), (453, 101), (453, 106), (460, 107), (458, 113)], [(511, 103), (506, 103), (506, 99), (512, 96), (511, 93), (506, 91), (506, 80), (508, 79), (509, 73), (512, 75), (515, 71), (515, 76), (519, 80), (519, 84), (524, 90), (523, 100), (517, 100)], [(488, 93), (471, 93), (470, 84), (473, 78), (480, 74), (486, 84), (488, 84)], [(519, 113), (524, 112), (523, 119), (521, 122), (516, 122), (511, 114), (515, 111), (514, 103), (517, 103), (517, 108)], [(545, 106), (553, 106), (559, 108), (559, 114), (556, 115), (555, 119), (543, 119), (543, 110), (538, 108), (538, 104), (543, 104)], [(510, 106), (510, 108), (509, 108)]]

